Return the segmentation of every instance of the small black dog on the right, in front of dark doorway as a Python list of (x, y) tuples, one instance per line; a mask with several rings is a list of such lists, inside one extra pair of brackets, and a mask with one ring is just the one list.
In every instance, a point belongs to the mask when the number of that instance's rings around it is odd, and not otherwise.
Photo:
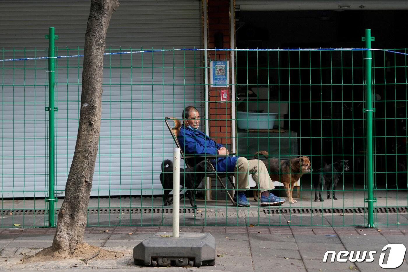
[(337, 182), (339, 181), (341, 174), (343, 174), (344, 171), (348, 171), (348, 169), (350, 169), (350, 167), (348, 167), (348, 160), (337, 160), (337, 162), (329, 165), (324, 163), (324, 166), (317, 170), (313, 178), (313, 185), (316, 190), (315, 201), (317, 201), (317, 191), (319, 191), (320, 201), (324, 201), (324, 199), (322, 198), (322, 191), (324, 190), (324, 186), (326, 183), (327, 183), (327, 199), (331, 199), (330, 187), (333, 186), (333, 199), (337, 200), (336, 198)]

